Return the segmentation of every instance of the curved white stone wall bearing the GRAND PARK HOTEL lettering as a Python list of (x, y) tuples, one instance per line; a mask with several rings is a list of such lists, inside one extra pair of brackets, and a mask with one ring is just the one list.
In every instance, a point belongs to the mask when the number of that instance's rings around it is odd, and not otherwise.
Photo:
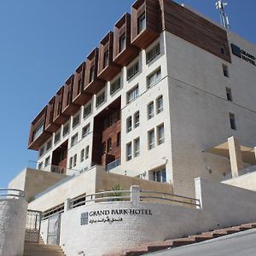
[[(108, 202), (78, 207), (64, 212), (61, 217), (61, 247), (67, 256), (100, 256), (148, 241), (164, 241), (197, 234), (202, 231), (228, 227), (256, 220), (256, 192), (223, 183), (195, 179), (201, 209), (165, 205), (153, 202)], [(147, 209), (152, 215), (115, 215), (116, 209)], [(108, 217), (122, 221), (90, 223), (106, 219), (106, 215), (89, 217), (81, 225), (82, 212), (109, 210)]]

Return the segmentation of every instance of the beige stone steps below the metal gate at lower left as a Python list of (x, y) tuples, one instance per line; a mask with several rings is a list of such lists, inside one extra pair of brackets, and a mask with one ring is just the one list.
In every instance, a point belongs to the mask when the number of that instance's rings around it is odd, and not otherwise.
[(61, 247), (45, 245), (40, 237), (39, 243), (25, 243), (23, 256), (65, 256)]

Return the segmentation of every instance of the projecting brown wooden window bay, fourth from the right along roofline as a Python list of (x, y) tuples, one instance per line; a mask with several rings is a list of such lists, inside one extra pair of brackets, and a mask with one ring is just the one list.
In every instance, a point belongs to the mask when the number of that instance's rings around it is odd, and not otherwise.
[(106, 81), (98, 78), (98, 57), (99, 49), (94, 49), (87, 57), (85, 70), (84, 92), (86, 94), (96, 94), (105, 86)]

